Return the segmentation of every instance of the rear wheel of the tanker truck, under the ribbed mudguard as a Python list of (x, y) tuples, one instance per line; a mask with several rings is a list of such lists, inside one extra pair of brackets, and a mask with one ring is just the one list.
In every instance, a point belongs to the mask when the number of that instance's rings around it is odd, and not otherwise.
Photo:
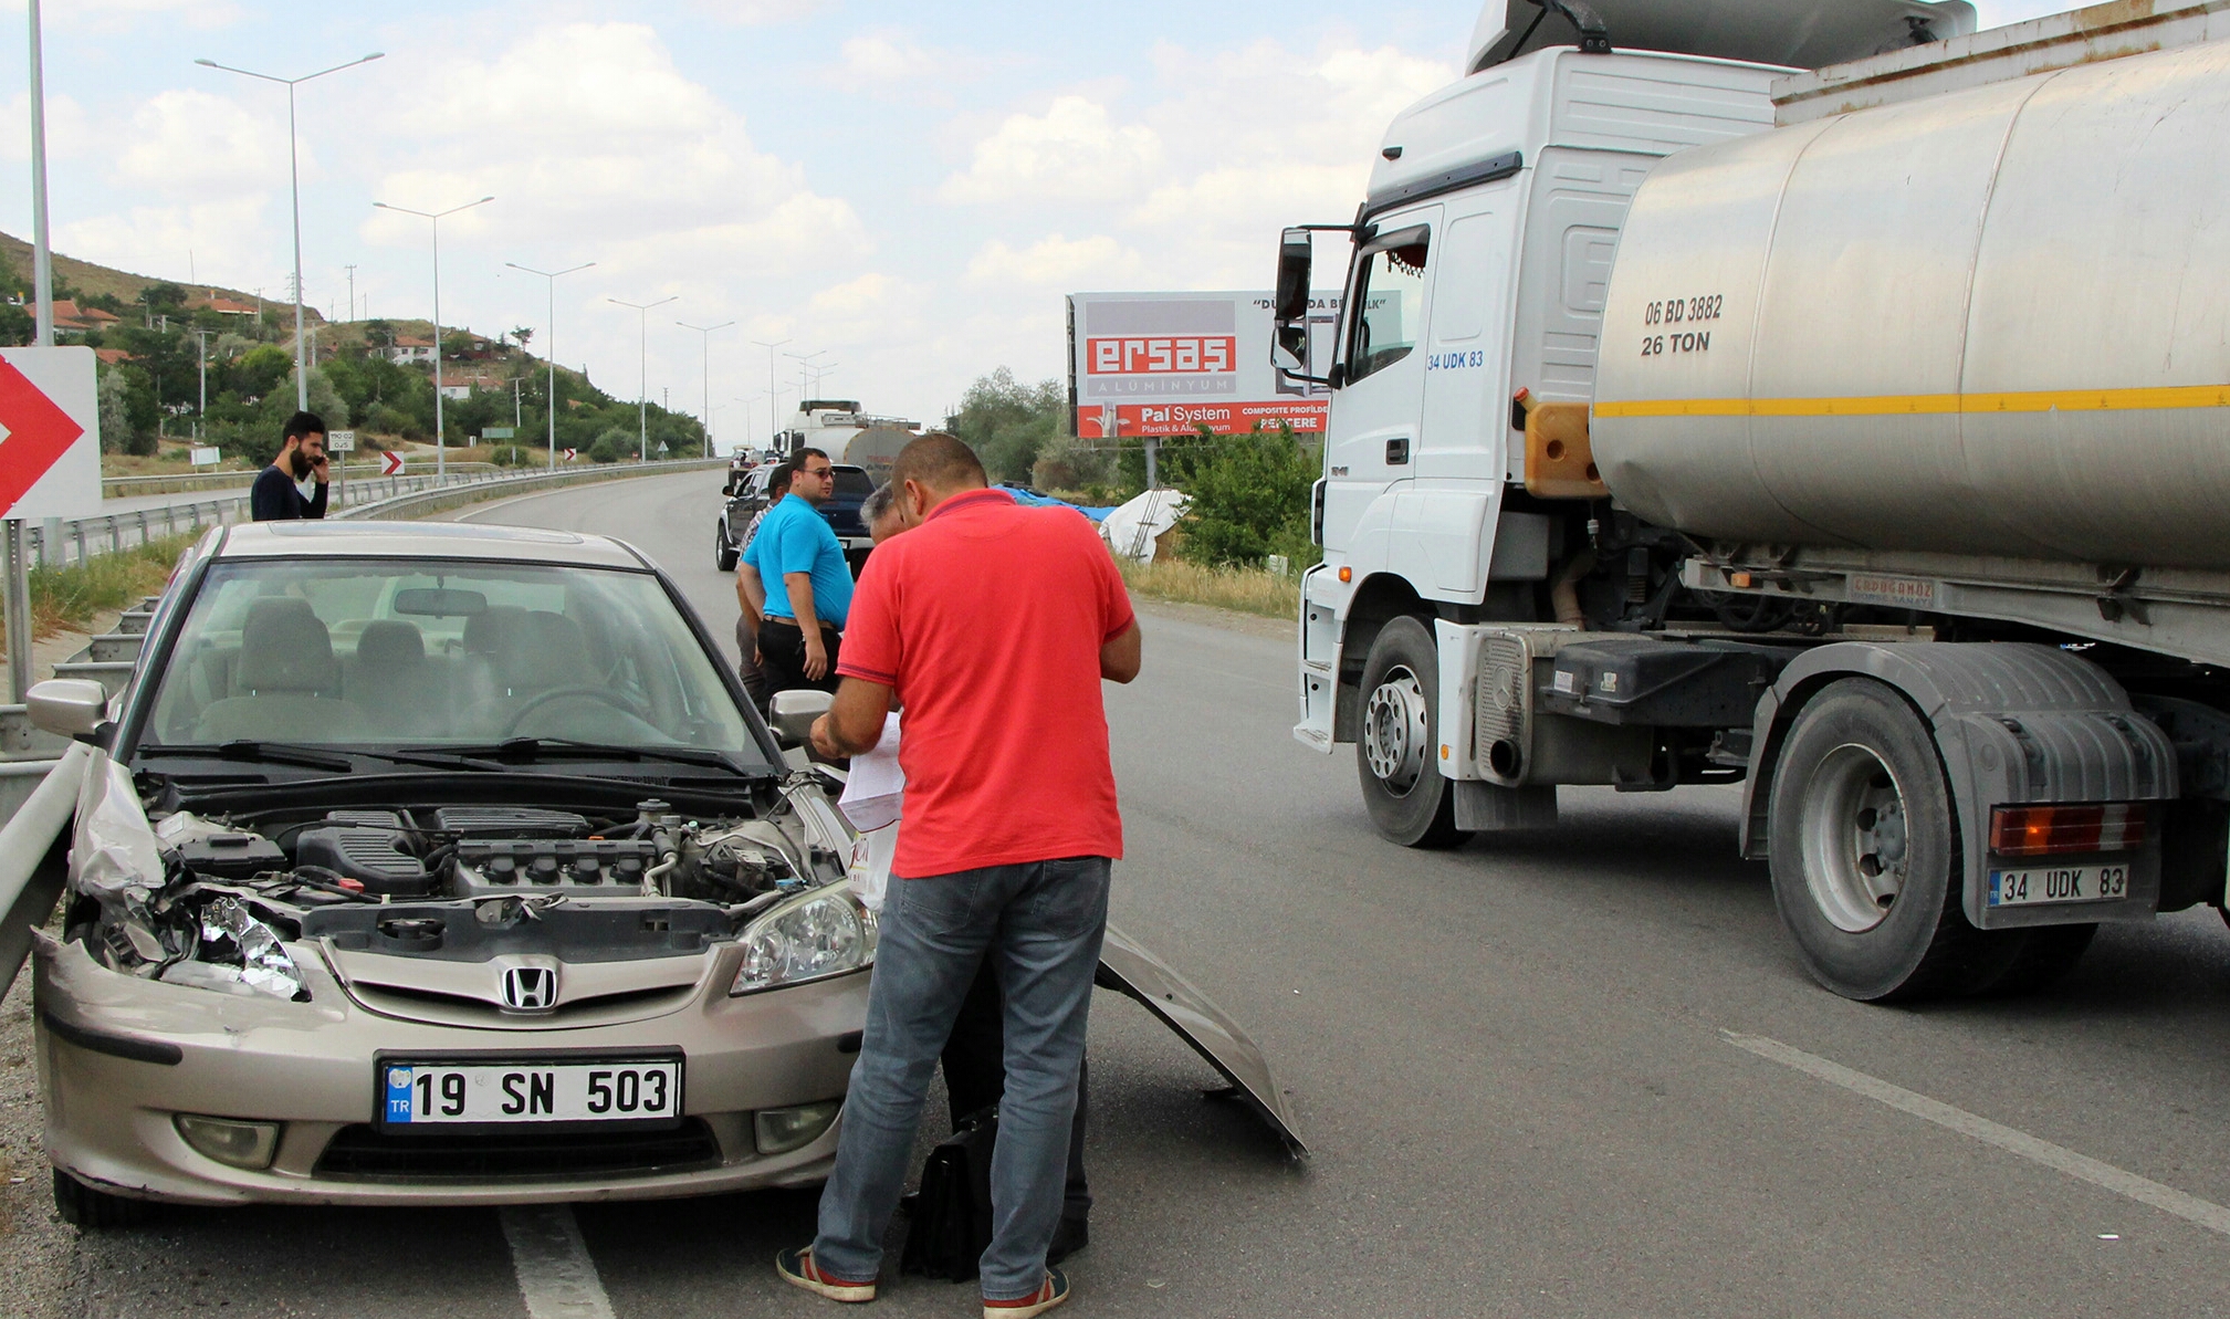
[(1884, 683), (1842, 678), (1797, 714), (1766, 828), (1782, 924), (1813, 980), (1844, 998), (1980, 989), (2025, 944), (2027, 931), (1967, 924), (1951, 786), (1927, 725)]

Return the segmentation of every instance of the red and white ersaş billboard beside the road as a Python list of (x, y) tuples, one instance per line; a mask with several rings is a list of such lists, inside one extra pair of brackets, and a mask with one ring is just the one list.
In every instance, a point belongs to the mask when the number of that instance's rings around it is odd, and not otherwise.
[[(1311, 364), (1331, 362), (1338, 317), (1340, 295), (1311, 299)], [(1077, 435), (1322, 431), (1329, 391), (1280, 379), (1269, 344), (1269, 292), (1073, 292), (1068, 399)]]

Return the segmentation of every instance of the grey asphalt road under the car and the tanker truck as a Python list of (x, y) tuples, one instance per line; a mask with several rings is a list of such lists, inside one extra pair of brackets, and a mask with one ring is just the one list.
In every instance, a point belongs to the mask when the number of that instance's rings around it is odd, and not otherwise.
[[(462, 516), (624, 536), (727, 634), (716, 491), (691, 473)], [(1804, 978), (1764, 868), (1735, 859), (1733, 792), (1565, 790), (1554, 830), (1405, 853), (1371, 835), (1347, 748), (1293, 743), (1282, 627), (1144, 623), (1146, 670), (1108, 694), (1115, 922), (1253, 1029), (1316, 1154), (1287, 1163), (1202, 1103), (1215, 1076), (1102, 993), (1099, 1203), (1068, 1312), (2230, 1315), (2212, 911), (2110, 928), (2038, 998), (1851, 1004)], [(29, 1201), (4, 1203), (25, 1230)], [(27, 1259), (65, 1315), (511, 1319), (522, 1286), (537, 1319), (823, 1315), (769, 1268), (812, 1207), (582, 1205), (593, 1277), (558, 1283), (533, 1236), (564, 1221), (515, 1219), (513, 1248), (484, 1210), (165, 1214)], [(970, 1303), (899, 1279), (879, 1312)]]

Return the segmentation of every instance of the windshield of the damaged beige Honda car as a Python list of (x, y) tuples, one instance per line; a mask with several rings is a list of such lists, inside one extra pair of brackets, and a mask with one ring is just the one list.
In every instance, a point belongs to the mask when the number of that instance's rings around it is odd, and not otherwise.
[(763, 766), (716, 663), (651, 574), (219, 562), (178, 629), (140, 748), (533, 736)]

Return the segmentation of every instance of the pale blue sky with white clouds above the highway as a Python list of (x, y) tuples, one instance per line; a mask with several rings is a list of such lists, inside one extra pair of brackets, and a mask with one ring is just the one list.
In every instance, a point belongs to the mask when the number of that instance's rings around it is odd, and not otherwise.
[[(1985, 25), (2065, 9), (1980, 0)], [(925, 11), (934, 9), (937, 18)], [(723, 440), (767, 433), (767, 350), (796, 399), (937, 417), (970, 379), (1061, 373), (1061, 295), (1258, 288), (1278, 225), (1354, 212), (1396, 109), (1456, 74), (1476, 0), (47, 0), (56, 248), (283, 299), (285, 89), (301, 96), (303, 283), (348, 315), (542, 330), (631, 397), (698, 408), (716, 326)], [(29, 234), (25, 0), (0, 0), (0, 228)], [(756, 397), (754, 397), (756, 395)]]

